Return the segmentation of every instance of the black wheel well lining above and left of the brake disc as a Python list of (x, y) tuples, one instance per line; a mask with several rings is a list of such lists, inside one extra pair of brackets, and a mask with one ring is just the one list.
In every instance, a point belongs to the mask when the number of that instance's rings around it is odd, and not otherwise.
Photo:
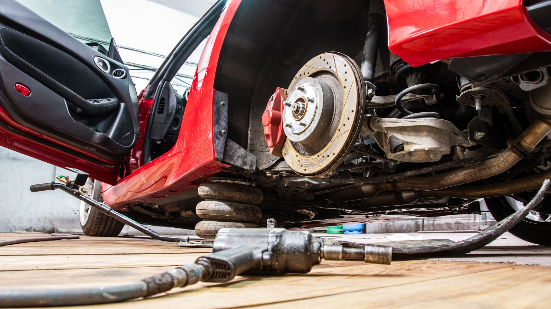
[(276, 87), (288, 87), (302, 65), (320, 53), (341, 52), (360, 63), (367, 3), (243, 0), (226, 34), (214, 81), (214, 89), (229, 94), (228, 138), (265, 162), (271, 154), (261, 117), (268, 98)]

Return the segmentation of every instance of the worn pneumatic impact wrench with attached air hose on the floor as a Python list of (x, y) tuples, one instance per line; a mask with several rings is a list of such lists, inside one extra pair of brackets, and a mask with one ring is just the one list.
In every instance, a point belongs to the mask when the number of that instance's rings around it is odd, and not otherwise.
[(139, 282), (79, 289), (0, 290), (0, 307), (105, 304), (146, 297), (172, 288), (203, 282), (228, 282), (239, 274), (308, 273), (321, 259), (360, 260), (390, 264), (392, 248), (365, 245), (324, 245), (306, 231), (282, 228), (224, 228), (214, 240), (213, 253), (195, 263)]

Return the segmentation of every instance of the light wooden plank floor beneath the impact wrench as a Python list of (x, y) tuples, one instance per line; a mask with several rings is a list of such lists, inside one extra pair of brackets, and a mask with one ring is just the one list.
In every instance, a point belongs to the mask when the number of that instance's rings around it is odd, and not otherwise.
[[(0, 240), (35, 236), (0, 234)], [(133, 282), (193, 262), (206, 252), (152, 239), (87, 236), (5, 246), (0, 247), (0, 289)], [(198, 283), (145, 300), (94, 307), (551, 308), (550, 295), (551, 267), (426, 260), (395, 261), (390, 266), (324, 261), (309, 274), (237, 277), (230, 283)]]

